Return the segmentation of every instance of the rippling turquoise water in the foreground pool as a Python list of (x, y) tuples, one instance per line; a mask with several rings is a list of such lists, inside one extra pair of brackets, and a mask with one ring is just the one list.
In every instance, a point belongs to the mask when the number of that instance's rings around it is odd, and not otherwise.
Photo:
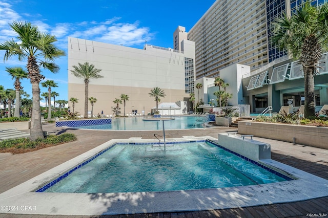
[[(170, 145), (170, 144), (169, 144)], [(45, 192), (110, 193), (247, 186), (286, 181), (209, 142), (116, 144)]]

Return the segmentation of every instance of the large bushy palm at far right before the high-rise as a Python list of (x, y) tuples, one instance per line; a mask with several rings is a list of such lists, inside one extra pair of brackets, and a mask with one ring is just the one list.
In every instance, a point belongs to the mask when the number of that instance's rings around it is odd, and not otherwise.
[(315, 116), (314, 76), (319, 74), (319, 60), (328, 45), (328, 3), (312, 6), (310, 1), (292, 14), (274, 22), (272, 41), (299, 59), (304, 72), (304, 117)]

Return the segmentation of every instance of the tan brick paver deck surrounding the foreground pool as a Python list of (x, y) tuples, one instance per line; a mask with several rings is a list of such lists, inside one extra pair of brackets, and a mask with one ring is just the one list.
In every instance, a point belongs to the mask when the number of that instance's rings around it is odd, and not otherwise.
[[(20, 183), (23, 183), (42, 172), (47, 171), (48, 169), (53, 168), (61, 163), (64, 163), (67, 160), (70, 160), (80, 154), (83, 154), (85, 151), (88, 151), (104, 142), (113, 139), (113, 138), (130, 138), (130, 137), (142, 137), (143, 139), (154, 139), (153, 135), (161, 134), (161, 130), (158, 131), (127, 131), (127, 132), (114, 132), (114, 131), (97, 131), (97, 130), (76, 130), (62, 127), (54, 127), (54, 124), (48, 124), (43, 126), (44, 130), (47, 130), (49, 134), (57, 134), (63, 132), (74, 133), (78, 141), (67, 143), (65, 145), (58, 145), (55, 147), (49, 147), (42, 150), (37, 150), (33, 152), (29, 152), (26, 154), (20, 155), (11, 155), (11, 154), (0, 154), (0, 164), (2, 166), (2, 170), (0, 172), (0, 192), (4, 192)], [(232, 130), (235, 128), (228, 127), (214, 127), (214, 128), (206, 128), (206, 129), (193, 129), (193, 130), (167, 130), (166, 136), (167, 138), (180, 138), (182, 136), (212, 136), (217, 138), (218, 133), (223, 133), (228, 130)], [(320, 176), (324, 179), (328, 178), (328, 163), (327, 163), (327, 155), (328, 151), (320, 148), (313, 148), (309, 146), (299, 146), (293, 145), (291, 143), (279, 142), (275, 140), (267, 140), (256, 138), (258, 141), (263, 141), (271, 144), (272, 149), (272, 159), (277, 160), (279, 162), (292, 165), (296, 168), (300, 168), (304, 171), (308, 171), (313, 173), (314, 175)], [(17, 161), (18, 160), (18, 161)], [(293, 201), (293, 199), (291, 199)], [(265, 210), (269, 210), (267, 214), (272, 214), (270, 216), (274, 216), (275, 213), (281, 214), (281, 216), (291, 216), (291, 215), (306, 215), (304, 212), (308, 210), (308, 213), (324, 213), (327, 212), (328, 198), (320, 198), (309, 200), (305, 202), (311, 206), (308, 206), (307, 209), (304, 206), (298, 206), (303, 208), (303, 210), (295, 209), (297, 208), (296, 203), (288, 203), (282, 204), (284, 207), (290, 208), (289, 211), (281, 210), (271, 211), (274, 207), (280, 204), (273, 204), (268, 206), (257, 206), (261, 209), (267, 208)], [(302, 202), (299, 204), (303, 204)], [(292, 206), (294, 205), (294, 209)], [(320, 206), (321, 205), (321, 206)], [(257, 217), (260, 214), (260, 211), (257, 211), (254, 208), (250, 207), (247, 209), (244, 208), (236, 208), (236, 209), (227, 209), (227, 210), (211, 210), (211, 211), (195, 211), (195, 212), (179, 212), (172, 213), (172, 215), (179, 214), (224, 214), (224, 211), (235, 211), (239, 213), (240, 211), (244, 211), (244, 213), (254, 214), (254, 217)], [(269, 208), (269, 209), (268, 209)], [(271, 209), (270, 209), (271, 208)], [(297, 214), (297, 210), (301, 211)], [(168, 210), (169, 211), (169, 210)], [(188, 210), (186, 210), (188, 211)], [(252, 212), (250, 212), (252, 211)], [(255, 211), (255, 212), (254, 212)], [(33, 213), (32, 213), (33, 214)], [(157, 213), (156, 213), (157, 214)], [(214, 215), (213, 215), (214, 214)], [(256, 215), (257, 214), (257, 215)], [(0, 214), (5, 215), (5, 214)], [(230, 214), (232, 215), (232, 213)], [(16, 217), (20, 217), (21, 215), (17, 215)], [(129, 215), (129, 217), (134, 217), (134, 215)], [(186, 215), (187, 216), (187, 215)], [(208, 216), (208, 215), (207, 215)], [(8, 217), (14, 217), (13, 215), (9, 215)], [(116, 216), (117, 217), (117, 216)], [(125, 217), (125, 216), (124, 216)], [(149, 216), (152, 217), (152, 216)], [(155, 216), (154, 216), (155, 217)], [(170, 217), (170, 216), (168, 216)], [(203, 217), (203, 216), (200, 216)]]

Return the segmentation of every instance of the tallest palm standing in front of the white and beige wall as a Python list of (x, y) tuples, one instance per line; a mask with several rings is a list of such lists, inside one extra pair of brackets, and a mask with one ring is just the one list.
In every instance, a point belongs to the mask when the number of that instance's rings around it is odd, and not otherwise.
[(70, 70), (72, 74), (78, 78), (83, 78), (85, 83), (85, 100), (84, 100), (84, 117), (88, 117), (88, 96), (89, 96), (89, 82), (91, 79), (98, 79), (103, 76), (99, 75), (100, 69), (96, 69), (93, 64), (89, 62), (84, 64), (78, 63), (78, 66), (72, 66), (74, 70)]

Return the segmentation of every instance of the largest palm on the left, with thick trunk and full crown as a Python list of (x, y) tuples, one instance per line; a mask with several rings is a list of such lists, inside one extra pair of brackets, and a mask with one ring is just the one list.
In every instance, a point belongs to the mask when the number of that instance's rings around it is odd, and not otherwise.
[[(39, 83), (45, 77), (40, 74), (39, 67), (48, 69), (52, 73), (59, 70), (53, 61), (64, 56), (65, 52), (58, 49), (54, 42), (56, 37), (40, 32), (37, 26), (26, 21), (13, 21), (9, 24), (11, 29), (18, 34), (17, 39), (8, 40), (0, 44), (0, 50), (5, 50), (4, 60), (17, 56), (18, 60), (27, 58), (27, 70), (32, 84), (33, 107), (30, 128), (30, 140), (44, 138), (40, 114), (40, 88)], [(17, 42), (18, 41), (18, 42)]]

